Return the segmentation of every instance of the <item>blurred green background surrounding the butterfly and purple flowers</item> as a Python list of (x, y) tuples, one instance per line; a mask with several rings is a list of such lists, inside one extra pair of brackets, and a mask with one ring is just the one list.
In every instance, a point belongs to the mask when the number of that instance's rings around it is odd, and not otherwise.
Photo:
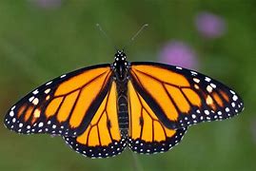
[[(220, 35), (198, 30), (202, 12), (221, 19)], [(114, 48), (96, 23), (118, 47), (148, 23), (126, 49), (129, 61), (161, 61), (168, 42), (182, 42), (194, 52), (190, 60), (197, 64), (191, 67), (233, 87), (246, 106), (234, 119), (190, 127), (167, 153), (126, 150), (105, 160), (74, 153), (60, 137), (21, 136), (2, 124), (0, 170), (255, 170), (255, 18), (254, 0), (0, 1), (1, 123), (10, 106), (36, 86), (75, 68), (113, 61)]]

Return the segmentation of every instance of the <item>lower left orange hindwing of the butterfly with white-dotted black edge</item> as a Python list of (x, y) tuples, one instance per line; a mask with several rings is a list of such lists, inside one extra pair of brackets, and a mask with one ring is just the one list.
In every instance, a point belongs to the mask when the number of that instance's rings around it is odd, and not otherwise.
[(124, 150), (126, 140), (120, 135), (116, 98), (113, 82), (87, 129), (78, 137), (64, 137), (73, 150), (89, 158), (107, 158)]

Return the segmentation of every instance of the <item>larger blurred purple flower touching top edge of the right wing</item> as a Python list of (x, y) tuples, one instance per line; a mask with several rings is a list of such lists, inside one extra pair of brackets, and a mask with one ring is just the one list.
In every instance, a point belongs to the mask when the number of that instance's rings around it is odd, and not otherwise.
[(180, 41), (171, 41), (162, 47), (160, 62), (190, 69), (198, 68), (198, 60), (194, 50)]

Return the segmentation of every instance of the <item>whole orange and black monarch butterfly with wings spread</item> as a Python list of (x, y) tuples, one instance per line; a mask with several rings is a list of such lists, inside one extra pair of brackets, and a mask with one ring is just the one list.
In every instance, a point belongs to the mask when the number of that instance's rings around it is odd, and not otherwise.
[(60, 135), (89, 158), (128, 147), (165, 152), (187, 126), (224, 120), (244, 108), (226, 85), (180, 66), (132, 62), (124, 50), (113, 64), (84, 67), (34, 89), (14, 104), (5, 125), (17, 133)]

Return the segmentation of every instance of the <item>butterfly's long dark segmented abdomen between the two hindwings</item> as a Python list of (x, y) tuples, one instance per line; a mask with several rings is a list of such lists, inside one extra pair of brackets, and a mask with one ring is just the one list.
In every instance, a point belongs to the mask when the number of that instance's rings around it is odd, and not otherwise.
[(128, 136), (128, 83), (126, 81), (124, 82), (117, 83), (118, 123), (123, 138)]

